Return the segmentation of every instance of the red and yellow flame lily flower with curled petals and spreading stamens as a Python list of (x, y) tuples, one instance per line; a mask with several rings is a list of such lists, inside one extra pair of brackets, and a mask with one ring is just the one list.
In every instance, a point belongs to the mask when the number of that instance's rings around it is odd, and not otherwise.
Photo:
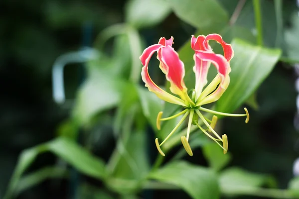
[[(209, 40), (215, 40), (217, 43), (221, 44), (223, 48), (224, 55), (215, 54), (210, 45), (208, 44)], [(142, 80), (145, 82), (145, 86), (148, 87), (149, 91), (153, 92), (158, 98), (165, 100), (169, 103), (175, 103), (181, 105), (184, 110), (170, 117), (161, 118), (162, 112), (159, 112), (157, 115), (157, 129), (160, 129), (160, 121), (165, 121), (173, 119), (180, 115), (183, 115), (178, 124), (174, 129), (169, 133), (169, 135), (159, 144), (158, 139), (155, 139), (155, 143), (159, 153), (162, 156), (165, 156), (162, 152), (160, 146), (162, 146), (166, 140), (175, 132), (175, 130), (183, 123), (183, 121), (188, 118), (187, 134), (186, 136), (181, 137), (182, 144), (186, 152), (192, 156), (192, 150), (188, 143), (190, 128), (191, 125), (196, 125), (198, 128), (205, 133), (208, 137), (214, 140), (221, 148), (223, 148), (224, 154), (228, 149), (227, 136), (224, 134), (220, 137), (214, 130), (214, 127), (217, 122), (216, 115), (225, 115), (225, 116), (246, 116), (245, 122), (249, 121), (249, 114), (246, 108), (246, 114), (230, 114), (224, 112), (218, 112), (202, 107), (202, 105), (212, 103), (218, 100), (222, 94), (227, 89), (230, 83), (229, 73), (231, 72), (230, 60), (234, 56), (234, 51), (230, 44), (227, 44), (223, 41), (222, 37), (218, 34), (209, 34), (207, 36), (199, 35), (198, 37), (191, 37), (191, 48), (194, 50), (193, 59), (195, 65), (193, 71), (195, 73), (195, 89), (192, 91), (191, 97), (188, 96), (187, 88), (183, 81), (185, 75), (185, 69), (183, 62), (179, 59), (178, 53), (172, 48), (173, 37), (170, 39), (165, 39), (164, 37), (160, 38), (158, 44), (154, 44), (146, 48), (143, 54), (140, 56), (141, 62), (143, 64), (142, 68)], [(174, 95), (167, 93), (166, 91), (159, 88), (149, 77), (148, 67), (149, 60), (153, 53), (157, 52), (157, 59), (160, 62), (159, 68), (166, 76), (166, 80), (170, 82), (170, 91)], [(207, 74), (210, 65), (214, 65), (217, 69), (218, 74), (207, 84)], [(205, 87), (206, 86), (206, 87)], [(207, 119), (201, 111), (209, 112), (213, 115), (211, 120)], [(204, 125), (207, 127), (205, 130), (198, 124), (199, 118), (203, 121)], [(214, 136), (212, 136), (213, 134)], [(221, 145), (219, 142), (222, 142)]]

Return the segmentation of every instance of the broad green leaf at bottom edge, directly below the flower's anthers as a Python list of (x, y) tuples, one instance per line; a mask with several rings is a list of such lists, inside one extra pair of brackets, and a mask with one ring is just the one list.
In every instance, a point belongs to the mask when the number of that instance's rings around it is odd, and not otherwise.
[(149, 178), (180, 187), (193, 199), (218, 199), (217, 178), (211, 170), (187, 162), (172, 162), (153, 171)]

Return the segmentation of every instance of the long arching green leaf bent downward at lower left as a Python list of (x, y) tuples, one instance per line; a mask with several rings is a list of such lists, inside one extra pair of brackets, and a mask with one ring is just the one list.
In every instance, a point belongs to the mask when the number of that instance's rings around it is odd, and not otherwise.
[(15, 190), (21, 175), (27, 170), (38, 154), (47, 151), (62, 158), (83, 174), (97, 179), (103, 179), (107, 176), (105, 163), (101, 159), (94, 157), (75, 142), (61, 137), (48, 143), (27, 149), (21, 153), (12, 178), (8, 184), (4, 199), (10, 199), (16, 194)]

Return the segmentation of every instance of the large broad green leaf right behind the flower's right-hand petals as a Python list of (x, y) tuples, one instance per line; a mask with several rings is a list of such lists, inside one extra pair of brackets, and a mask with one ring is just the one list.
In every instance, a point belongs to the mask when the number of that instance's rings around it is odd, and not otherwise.
[(247, 100), (270, 74), (281, 50), (253, 46), (240, 39), (232, 42), (230, 85), (217, 101), (217, 110), (232, 112)]

